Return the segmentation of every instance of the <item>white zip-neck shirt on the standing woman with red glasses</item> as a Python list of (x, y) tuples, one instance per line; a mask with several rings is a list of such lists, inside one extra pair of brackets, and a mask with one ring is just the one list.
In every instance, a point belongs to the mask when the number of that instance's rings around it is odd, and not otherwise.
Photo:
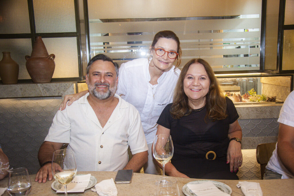
[[(153, 142), (157, 120), (168, 103), (173, 102), (173, 91), (181, 71), (174, 66), (164, 72), (156, 85), (149, 83), (149, 62), (139, 58), (121, 64), (116, 93), (139, 111), (147, 143)], [(154, 97), (153, 97), (154, 96)]]

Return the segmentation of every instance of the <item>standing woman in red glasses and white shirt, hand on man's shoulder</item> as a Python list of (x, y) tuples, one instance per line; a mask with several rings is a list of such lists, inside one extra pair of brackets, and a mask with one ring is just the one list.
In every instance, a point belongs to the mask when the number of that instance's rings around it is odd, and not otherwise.
[[(148, 144), (148, 162), (144, 173), (161, 174), (153, 159), (151, 146), (156, 135), (157, 120), (165, 106), (173, 101), (173, 91), (180, 75), (180, 40), (173, 31), (156, 33), (149, 48), (148, 58), (121, 64), (116, 93), (139, 111)], [(173, 65), (177, 60), (176, 65)], [(71, 105), (88, 91), (66, 95), (61, 110)]]

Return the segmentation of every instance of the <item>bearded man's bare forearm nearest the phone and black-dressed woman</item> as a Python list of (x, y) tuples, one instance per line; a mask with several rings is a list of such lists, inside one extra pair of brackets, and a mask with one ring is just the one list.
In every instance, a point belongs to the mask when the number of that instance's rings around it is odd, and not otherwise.
[(147, 150), (141, 153), (136, 153), (133, 155), (131, 160), (127, 163), (124, 170), (133, 170), (134, 172), (138, 172), (141, 170), (143, 165), (148, 161), (148, 153)]

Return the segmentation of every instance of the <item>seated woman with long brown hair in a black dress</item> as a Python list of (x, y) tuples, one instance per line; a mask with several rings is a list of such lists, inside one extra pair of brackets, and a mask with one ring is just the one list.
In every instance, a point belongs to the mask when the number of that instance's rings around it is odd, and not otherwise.
[(175, 177), (238, 180), (242, 130), (233, 102), (224, 97), (211, 66), (192, 59), (182, 69), (173, 103), (157, 123), (174, 145), (165, 173)]

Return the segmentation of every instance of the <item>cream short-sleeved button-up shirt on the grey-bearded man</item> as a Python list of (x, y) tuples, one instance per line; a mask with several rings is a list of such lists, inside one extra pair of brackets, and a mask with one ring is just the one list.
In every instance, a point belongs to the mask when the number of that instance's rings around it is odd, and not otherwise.
[(56, 113), (45, 141), (69, 143), (78, 171), (123, 169), (128, 163), (128, 146), (132, 154), (148, 150), (140, 115), (116, 94), (118, 104), (102, 128), (88, 95)]

